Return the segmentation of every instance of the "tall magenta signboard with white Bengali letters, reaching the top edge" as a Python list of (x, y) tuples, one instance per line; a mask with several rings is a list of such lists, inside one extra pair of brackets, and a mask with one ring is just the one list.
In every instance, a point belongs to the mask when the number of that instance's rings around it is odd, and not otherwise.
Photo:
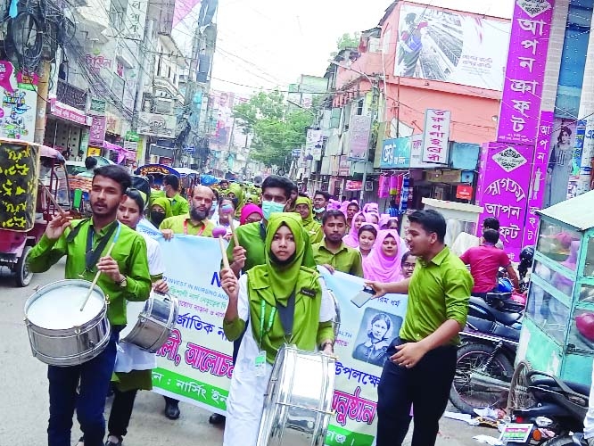
[(534, 145), (554, 0), (516, 0), (497, 140)]

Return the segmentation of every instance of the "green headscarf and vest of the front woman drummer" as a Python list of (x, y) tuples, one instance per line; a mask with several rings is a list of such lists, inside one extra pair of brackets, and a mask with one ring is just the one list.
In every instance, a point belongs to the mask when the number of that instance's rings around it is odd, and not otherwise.
[[(332, 320), (320, 322), (322, 287), (318, 271), (301, 266), (309, 241), (307, 235), (301, 231), (299, 216), (286, 212), (274, 214), (268, 223), (265, 249), (270, 249), (273, 236), (283, 224), (291, 229), (295, 238), (296, 252), (293, 261), (288, 265), (279, 266), (270, 260), (267, 254), (263, 265), (255, 266), (247, 272), (249, 317), (256, 342), (260, 340), (262, 301), (264, 322), (268, 325), (273, 309), (278, 305), (286, 307), (290, 295), (293, 291), (295, 293), (293, 332), (289, 336), (290, 339), (286, 339), (285, 329), (277, 313), (270, 330), (261, 336), (260, 348), (266, 351), (266, 358), (270, 364), (274, 363), (276, 352), (285, 342), (295, 344), (302, 350), (313, 351), (322, 341), (334, 340)], [(243, 333), (245, 323), (241, 318), (224, 321), (223, 329), (227, 339), (238, 339)]]

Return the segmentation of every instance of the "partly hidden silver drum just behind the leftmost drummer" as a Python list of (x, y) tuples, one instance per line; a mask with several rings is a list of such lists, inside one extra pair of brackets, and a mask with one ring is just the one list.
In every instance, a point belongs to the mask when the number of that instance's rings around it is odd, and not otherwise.
[(120, 332), (120, 342), (133, 343), (152, 353), (158, 351), (176, 326), (178, 310), (175, 297), (154, 291), (147, 301), (129, 301), (128, 325)]

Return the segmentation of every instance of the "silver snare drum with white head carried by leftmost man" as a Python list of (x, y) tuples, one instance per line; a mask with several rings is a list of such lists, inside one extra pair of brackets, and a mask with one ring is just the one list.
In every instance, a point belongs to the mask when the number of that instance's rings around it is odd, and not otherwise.
[(60, 280), (29, 297), (25, 325), (33, 356), (51, 366), (76, 366), (105, 349), (110, 323), (105, 295), (98, 286), (80, 310), (90, 287), (87, 280)]

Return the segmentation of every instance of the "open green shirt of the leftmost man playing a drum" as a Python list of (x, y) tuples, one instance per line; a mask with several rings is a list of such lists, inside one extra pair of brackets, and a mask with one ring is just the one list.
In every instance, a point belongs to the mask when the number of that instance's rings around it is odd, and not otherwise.
[[(102, 237), (109, 232), (112, 225), (103, 227), (93, 236), (93, 247), (97, 247)], [(27, 263), (29, 269), (35, 273), (47, 271), (62, 257), (66, 256), (66, 269), (64, 278), (85, 279), (92, 282), (97, 272), (95, 266), (86, 270), (87, 235), (92, 220), (74, 220), (72, 227), (82, 225), (78, 234), (71, 243), (67, 241), (71, 229), (67, 228), (57, 240), (50, 240), (45, 235), (39, 243), (29, 252)], [(107, 307), (107, 318), (114, 326), (126, 325), (126, 301), (146, 301), (151, 293), (151, 276), (149, 275), (148, 259), (146, 256), (146, 243), (142, 235), (136, 233), (126, 225), (120, 225), (120, 237), (111, 251), (111, 258), (118, 262), (120, 273), (126, 276), (128, 284), (121, 287), (111, 280), (109, 276), (99, 276), (97, 285), (103, 290), (110, 304)], [(116, 229), (117, 232), (117, 229)], [(111, 240), (115, 232), (111, 235)], [(111, 241), (105, 246), (107, 252)], [(82, 299), (82, 298), (81, 298)]]

